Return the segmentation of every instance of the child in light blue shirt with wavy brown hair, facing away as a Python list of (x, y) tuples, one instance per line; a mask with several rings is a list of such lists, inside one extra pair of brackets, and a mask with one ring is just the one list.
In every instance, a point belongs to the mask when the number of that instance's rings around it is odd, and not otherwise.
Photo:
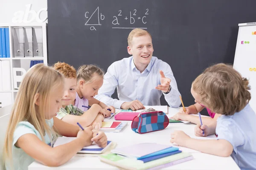
[[(221, 115), (217, 122), (203, 125), (205, 135), (216, 133), (217, 140), (192, 139), (183, 131), (175, 131), (171, 142), (217, 156), (232, 156), (241, 169), (256, 169), (256, 114), (248, 104), (248, 84), (230, 65), (207, 68), (191, 89), (198, 103)], [(201, 127), (195, 128), (198, 136), (203, 136)]]

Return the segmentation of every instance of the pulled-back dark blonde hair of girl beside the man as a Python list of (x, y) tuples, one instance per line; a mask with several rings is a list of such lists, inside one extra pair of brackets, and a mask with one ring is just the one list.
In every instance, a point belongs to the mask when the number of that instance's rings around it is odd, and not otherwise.
[(81, 65), (77, 71), (77, 80), (84, 79), (87, 83), (93, 82), (96, 74), (99, 78), (103, 79), (104, 71), (96, 65)]

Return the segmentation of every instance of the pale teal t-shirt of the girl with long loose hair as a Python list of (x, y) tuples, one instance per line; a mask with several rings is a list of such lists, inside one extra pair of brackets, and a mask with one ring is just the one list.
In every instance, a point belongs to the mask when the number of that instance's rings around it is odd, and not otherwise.
[[(53, 126), (53, 119), (46, 120), (46, 122), (50, 127)], [(23, 136), (28, 133), (35, 134), (41, 141), (43, 141), (40, 136), (40, 133), (38, 132), (38, 130), (35, 129), (35, 127), (32, 124), (25, 121), (19, 122), (13, 134), (13, 142), (12, 142), (12, 163), (14, 167), (13, 170), (27, 170), (29, 164), (35, 161), (35, 159), (30, 157), (28, 154), (26, 154), (21, 148), (15, 146), (15, 143), (20, 138), (20, 136)], [(51, 142), (51, 139), (47, 134), (44, 136), (44, 141), (46, 144), (49, 144)], [(6, 161), (5, 166), (6, 166), (6, 170), (12, 169), (8, 161)]]

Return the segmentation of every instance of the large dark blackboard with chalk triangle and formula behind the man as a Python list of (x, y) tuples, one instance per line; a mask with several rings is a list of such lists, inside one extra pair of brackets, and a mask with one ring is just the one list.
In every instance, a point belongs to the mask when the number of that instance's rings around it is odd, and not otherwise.
[(233, 64), (238, 23), (255, 21), (255, 6), (255, 0), (48, 0), (48, 61), (107, 71), (129, 57), (131, 29), (145, 28), (153, 56), (171, 66), (184, 104), (191, 105), (191, 83), (204, 68)]

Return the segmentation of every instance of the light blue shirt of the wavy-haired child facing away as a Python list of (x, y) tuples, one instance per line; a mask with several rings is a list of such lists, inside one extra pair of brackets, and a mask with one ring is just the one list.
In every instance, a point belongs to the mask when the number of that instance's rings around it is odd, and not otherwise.
[[(232, 116), (217, 120), (217, 139), (225, 139), (233, 146), (231, 157), (242, 169), (256, 169), (256, 114), (247, 104)], [(212, 146), (214, 147), (214, 146)]]

